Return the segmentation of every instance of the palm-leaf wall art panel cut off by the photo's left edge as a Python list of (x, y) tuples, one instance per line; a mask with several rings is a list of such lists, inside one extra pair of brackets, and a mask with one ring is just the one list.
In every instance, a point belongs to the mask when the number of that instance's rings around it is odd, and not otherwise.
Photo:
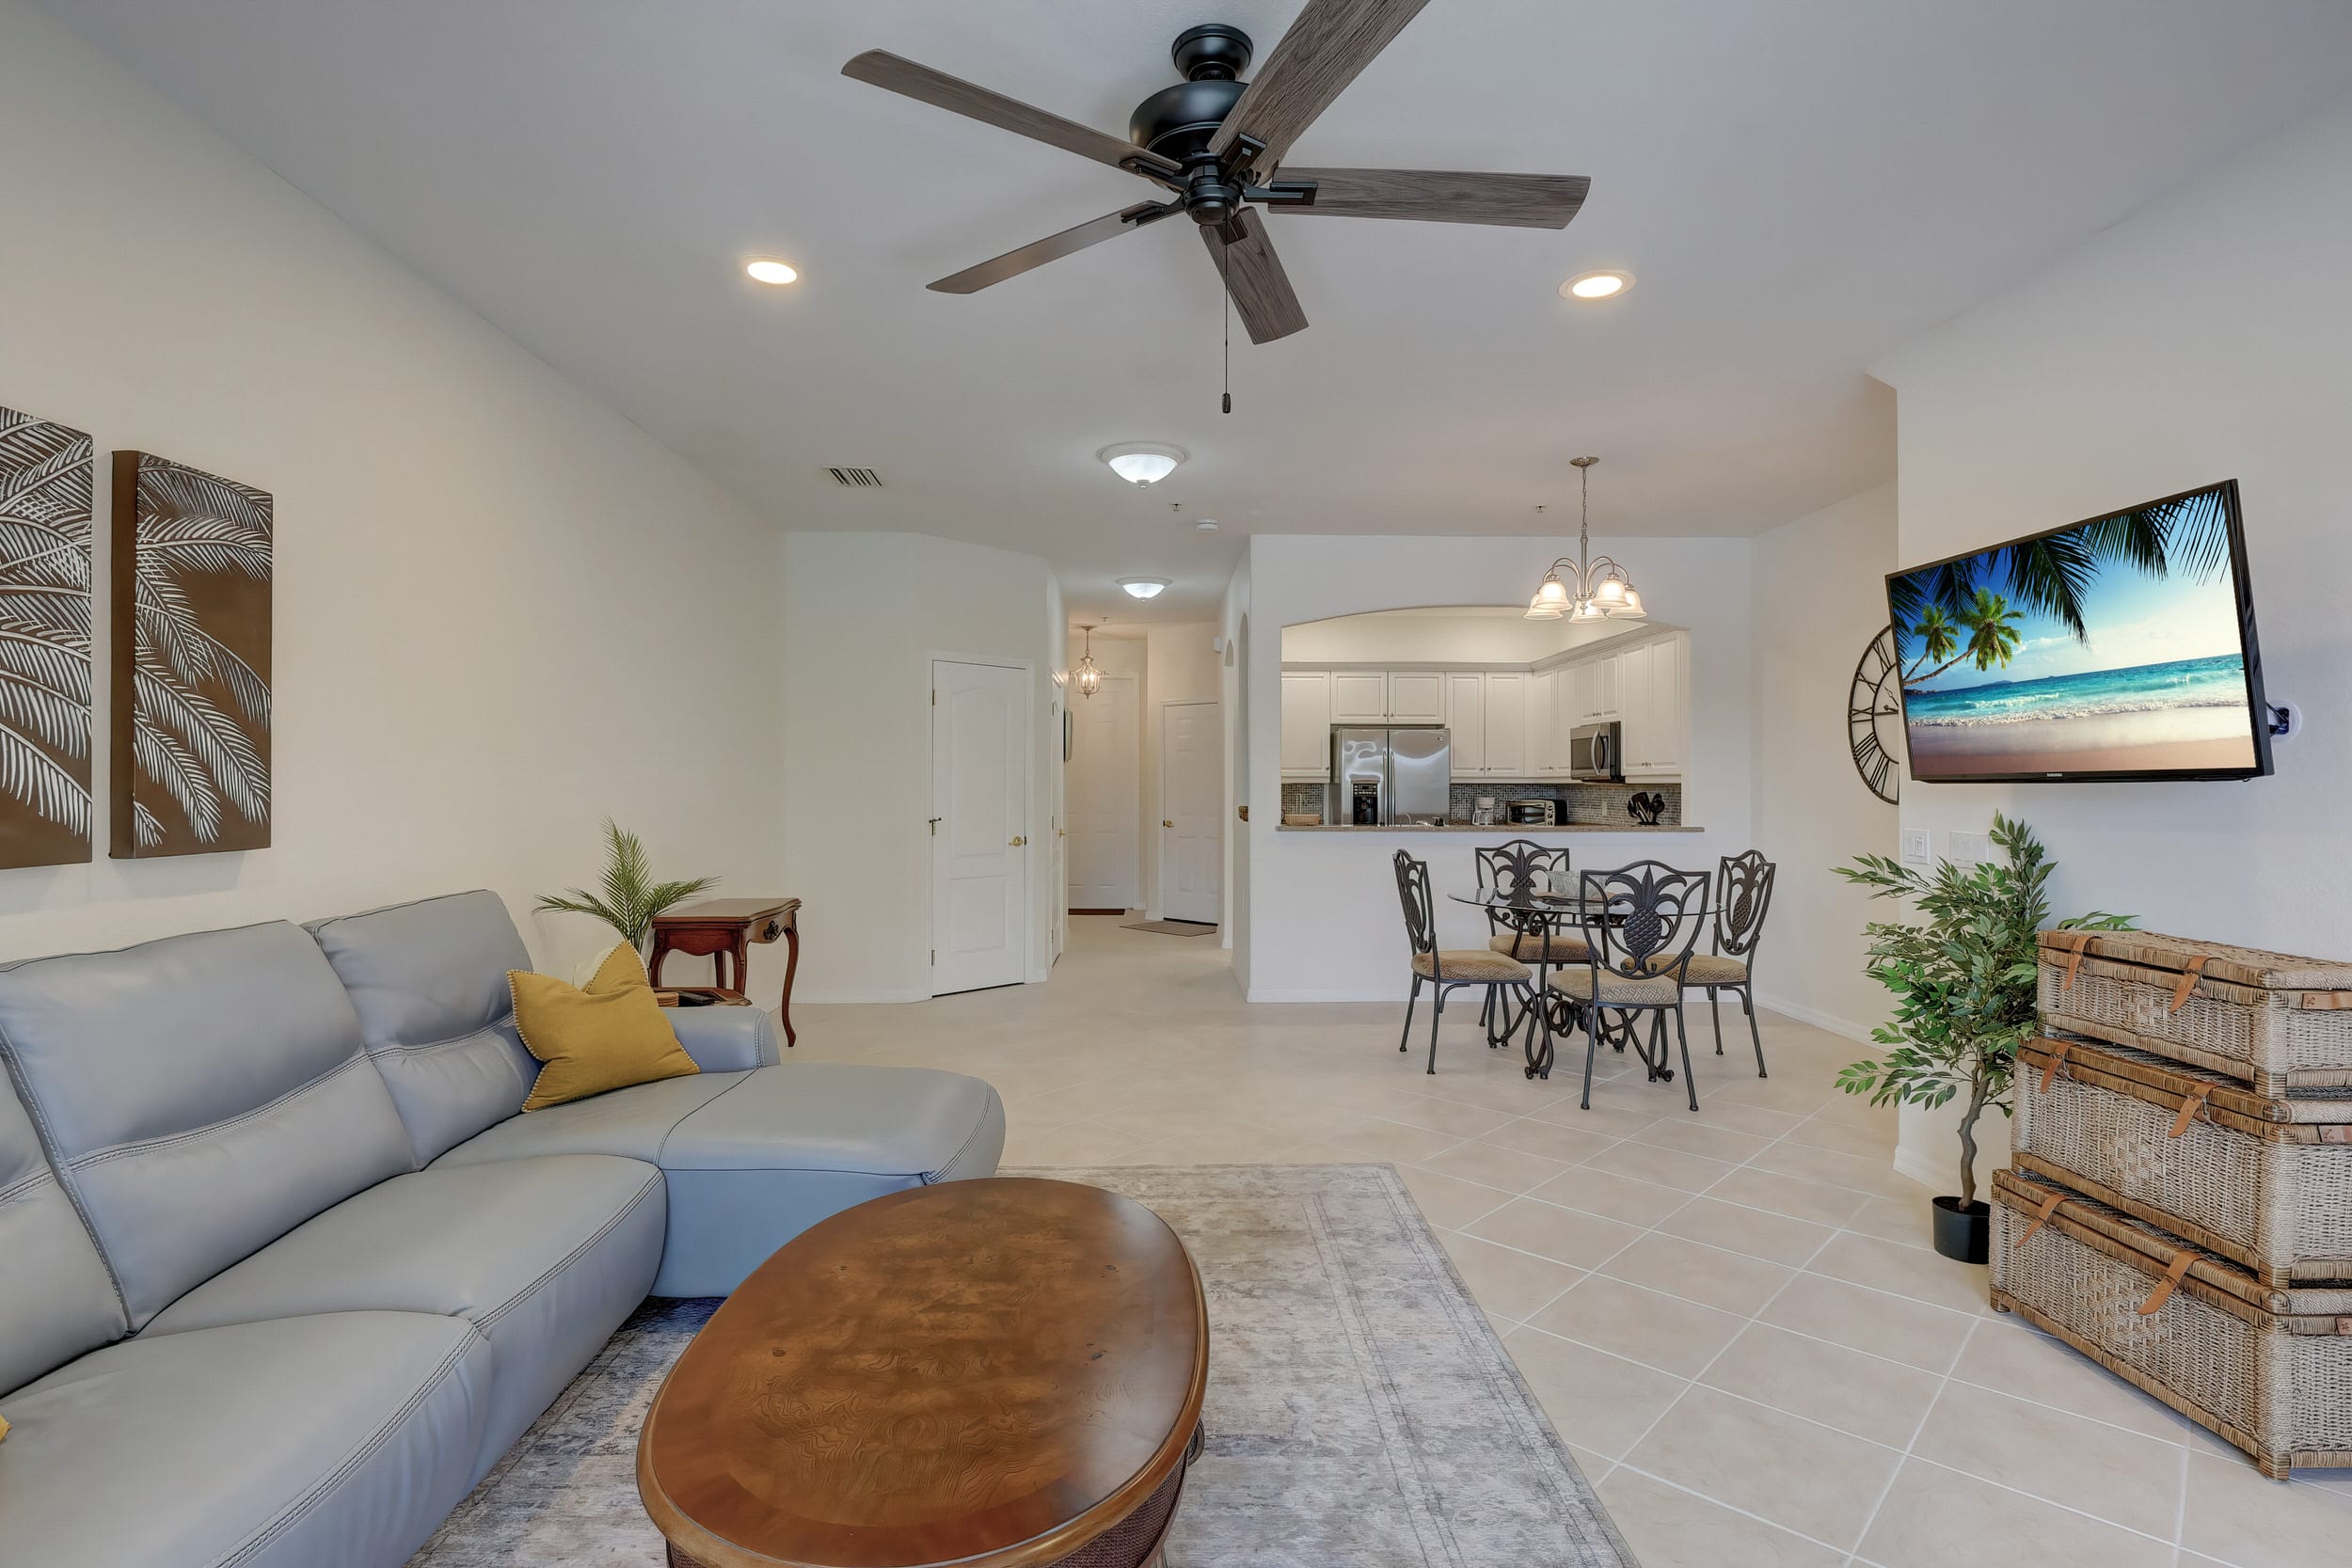
[(89, 437), (0, 409), (0, 867), (89, 858)]

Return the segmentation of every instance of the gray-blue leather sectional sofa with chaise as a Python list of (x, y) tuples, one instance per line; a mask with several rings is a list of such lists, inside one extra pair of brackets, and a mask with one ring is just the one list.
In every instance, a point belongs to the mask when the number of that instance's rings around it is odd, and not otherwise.
[(520, 1117), (494, 893), (0, 969), (0, 1559), (395, 1568), (647, 1295), (990, 1175), (995, 1091), (776, 1063)]

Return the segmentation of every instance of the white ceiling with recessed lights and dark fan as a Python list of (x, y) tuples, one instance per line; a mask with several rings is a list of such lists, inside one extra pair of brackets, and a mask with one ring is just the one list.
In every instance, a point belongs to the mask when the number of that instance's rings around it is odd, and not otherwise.
[[(1583, 216), (1270, 216), (1312, 327), (1242, 336), (1223, 416), (1188, 223), (922, 287), (1150, 186), (837, 71), (1124, 132), (1181, 28), (1263, 56), (1296, 0), (47, 7), (783, 527), (1037, 550), (1122, 621), (1200, 616), (1249, 531), (1573, 529), (1576, 451), (1599, 534), (1828, 505), (1893, 473), (1877, 355), (2352, 87), (2345, 0), (1432, 0), (1294, 162), (1590, 174)], [(1555, 296), (1590, 268), (1639, 284)], [(1192, 461), (1134, 491), (1115, 440)]]

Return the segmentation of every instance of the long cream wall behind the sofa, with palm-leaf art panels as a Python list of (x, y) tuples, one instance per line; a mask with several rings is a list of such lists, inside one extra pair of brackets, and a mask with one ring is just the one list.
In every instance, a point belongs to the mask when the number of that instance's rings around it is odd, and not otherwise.
[(0, 404), (96, 440), (101, 614), (111, 449), (278, 503), (273, 846), (108, 860), (101, 809), (94, 863), (0, 872), (0, 954), (473, 886), (567, 947), (527, 910), (604, 813), (781, 886), (767, 524), (19, 0), (0, 146)]

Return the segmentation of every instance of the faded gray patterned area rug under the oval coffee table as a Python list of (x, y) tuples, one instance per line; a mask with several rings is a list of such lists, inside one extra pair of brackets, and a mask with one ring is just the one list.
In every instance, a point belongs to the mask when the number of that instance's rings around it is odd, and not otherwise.
[[(1035, 1171), (1155, 1208), (1209, 1295), (1169, 1568), (1632, 1568), (1388, 1166)], [(409, 1568), (661, 1568), (637, 1427), (717, 1309), (647, 1302)]]

